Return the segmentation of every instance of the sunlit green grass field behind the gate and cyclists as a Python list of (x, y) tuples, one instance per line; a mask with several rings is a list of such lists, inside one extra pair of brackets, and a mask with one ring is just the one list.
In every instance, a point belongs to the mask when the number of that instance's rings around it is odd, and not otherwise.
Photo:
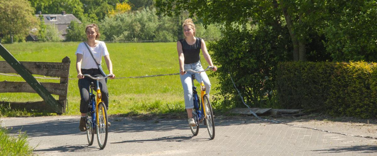
[[(18, 61), (61, 62), (68, 56), (71, 60), (68, 86), (68, 112), (66, 115), (80, 114), (80, 93), (77, 85), (75, 51), (79, 42), (26, 42), (3, 45)], [(146, 76), (178, 73), (176, 43), (107, 43), (113, 73), (116, 77)], [(203, 56), (201, 56), (203, 58)], [(4, 59), (0, 58), (0, 61)], [(202, 59), (203, 67), (207, 62)], [(105, 73), (106, 63), (102, 61)], [(207, 73), (209, 74), (209, 73)], [(38, 75), (35, 75), (38, 76)], [(0, 81), (25, 81), (21, 77), (0, 75)], [(39, 82), (59, 82), (59, 80), (37, 79)], [(216, 79), (210, 77), (211, 95), (215, 95)], [(198, 83), (196, 83), (198, 85)], [(107, 81), (109, 89), (109, 114), (174, 113), (184, 111), (183, 90), (179, 75), (147, 78), (123, 78)], [(54, 95), (57, 99), (58, 97)], [(0, 93), (2, 101), (41, 101), (38, 94)], [(213, 106), (216, 108), (216, 106)], [(0, 109), (0, 116), (38, 115), (25, 111)], [(48, 115), (48, 114), (42, 114)]]

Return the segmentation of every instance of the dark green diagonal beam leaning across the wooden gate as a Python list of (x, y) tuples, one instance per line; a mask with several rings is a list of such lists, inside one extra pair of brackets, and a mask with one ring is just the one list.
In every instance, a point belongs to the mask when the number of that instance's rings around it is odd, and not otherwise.
[(29, 85), (37, 92), (46, 103), (55, 111), (55, 113), (62, 113), (63, 106), (55, 100), (54, 97), (44, 88), (36, 79), (32, 76), (32, 74), (26, 70), (26, 68), (17, 61), (14, 56), (9, 53), (8, 50), (0, 44), (0, 55), (8, 62), (9, 65), (18, 73), (20, 76), (29, 83)]

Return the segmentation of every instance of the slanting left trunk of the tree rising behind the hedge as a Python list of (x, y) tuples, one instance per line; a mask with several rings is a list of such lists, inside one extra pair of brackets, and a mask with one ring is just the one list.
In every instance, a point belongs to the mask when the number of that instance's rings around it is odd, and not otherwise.
[(299, 42), (294, 37), (296, 33), (292, 30), (292, 20), (291, 17), (288, 15), (287, 8), (284, 5), (284, 0), (280, 0), (280, 6), (282, 8), (283, 15), (285, 17), (285, 21), (287, 22), (287, 27), (289, 31), (289, 35), (291, 36), (292, 44), (293, 44), (293, 61), (299, 61)]

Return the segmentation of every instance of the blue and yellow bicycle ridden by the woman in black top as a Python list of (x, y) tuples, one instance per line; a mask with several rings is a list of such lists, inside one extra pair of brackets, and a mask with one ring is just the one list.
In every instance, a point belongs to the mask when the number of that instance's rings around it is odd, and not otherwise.
[[(208, 66), (207, 69), (203, 71), (193, 71), (193, 70), (185, 70), (191, 71), (193, 73), (200, 73), (212, 69), (212, 66)], [(191, 75), (191, 81), (192, 81), (192, 92), (193, 92), (193, 98), (194, 98), (194, 110), (192, 111), (192, 117), (195, 120), (196, 126), (190, 126), (191, 132), (193, 135), (198, 135), (199, 133), (199, 123), (202, 123), (204, 120), (204, 125), (207, 125), (207, 130), (210, 135), (210, 138), (215, 138), (215, 120), (213, 116), (212, 106), (208, 97), (208, 94), (205, 93), (205, 85), (202, 81), (202, 77), (200, 77), (200, 97), (198, 95), (198, 92), (196, 91), (196, 87), (194, 86), (194, 80), (195, 80), (195, 74)], [(200, 105), (200, 101), (202, 105)], [(202, 107), (200, 107), (202, 106)]]

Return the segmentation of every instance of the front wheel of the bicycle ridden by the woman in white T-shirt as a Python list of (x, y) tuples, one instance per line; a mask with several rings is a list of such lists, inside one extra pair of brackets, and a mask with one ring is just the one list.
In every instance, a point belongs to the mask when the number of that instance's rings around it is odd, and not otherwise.
[(107, 127), (107, 110), (106, 106), (103, 102), (98, 104), (98, 112), (97, 112), (97, 117), (98, 117), (98, 125), (96, 126), (97, 128), (97, 141), (98, 145), (100, 146), (101, 149), (105, 148), (106, 142), (107, 142), (107, 131), (109, 130)]

